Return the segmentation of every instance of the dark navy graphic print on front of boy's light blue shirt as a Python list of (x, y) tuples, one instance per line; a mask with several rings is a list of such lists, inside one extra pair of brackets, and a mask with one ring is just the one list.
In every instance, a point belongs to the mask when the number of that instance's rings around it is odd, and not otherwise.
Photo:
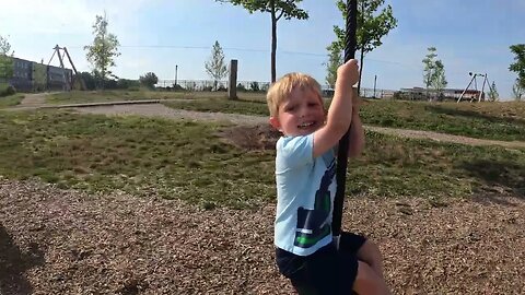
[(335, 160), (320, 179), (319, 189), (315, 192), (314, 210), (298, 209), (298, 227), (293, 245), (310, 248), (331, 233), (329, 214), (331, 209), (330, 186), (336, 174)]

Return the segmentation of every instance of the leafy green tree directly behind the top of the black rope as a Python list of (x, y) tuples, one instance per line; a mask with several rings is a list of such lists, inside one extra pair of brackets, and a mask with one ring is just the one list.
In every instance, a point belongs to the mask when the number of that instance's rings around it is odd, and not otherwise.
[[(363, 73), (364, 56), (375, 48), (383, 45), (381, 38), (386, 36), (390, 30), (397, 26), (397, 20), (394, 17), (394, 12), (390, 5), (382, 9), (381, 12), (375, 13), (380, 7), (384, 4), (385, 0), (360, 0), (358, 2), (358, 28), (355, 32), (357, 50), (360, 51), (360, 70), (358, 91), (361, 88), (361, 76)], [(337, 1), (337, 7), (342, 12), (343, 20), (347, 19), (347, 2), (342, 0)], [(335, 25), (334, 33), (336, 33), (337, 40), (332, 46), (338, 46), (342, 51), (345, 49), (343, 28)]]

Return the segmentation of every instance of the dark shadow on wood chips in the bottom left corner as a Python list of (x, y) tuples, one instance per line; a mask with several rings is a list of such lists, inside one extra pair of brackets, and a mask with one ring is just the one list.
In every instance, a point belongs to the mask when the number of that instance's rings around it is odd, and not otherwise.
[(28, 251), (22, 252), (0, 223), (0, 294), (32, 294), (33, 287), (24, 272), (44, 263), (44, 253), (36, 243), (28, 245)]

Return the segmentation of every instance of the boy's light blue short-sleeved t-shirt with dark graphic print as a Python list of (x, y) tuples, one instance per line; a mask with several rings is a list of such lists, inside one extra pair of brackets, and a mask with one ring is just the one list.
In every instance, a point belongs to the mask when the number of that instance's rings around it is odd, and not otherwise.
[(336, 194), (334, 150), (313, 157), (314, 134), (283, 137), (277, 142), (277, 247), (307, 256), (331, 243)]

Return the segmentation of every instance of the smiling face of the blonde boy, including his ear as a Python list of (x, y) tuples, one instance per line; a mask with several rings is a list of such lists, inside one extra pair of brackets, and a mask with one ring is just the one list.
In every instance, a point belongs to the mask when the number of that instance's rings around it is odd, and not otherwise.
[(294, 87), (279, 106), (277, 117), (270, 117), (273, 128), (284, 135), (307, 135), (325, 123), (325, 108), (319, 95), (308, 87)]

